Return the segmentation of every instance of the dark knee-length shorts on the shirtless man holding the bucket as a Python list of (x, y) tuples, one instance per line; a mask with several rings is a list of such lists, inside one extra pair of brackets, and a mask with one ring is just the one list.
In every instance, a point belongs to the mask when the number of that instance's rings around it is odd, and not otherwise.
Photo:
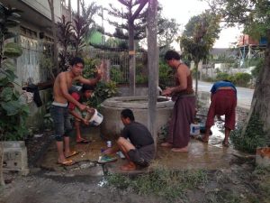
[(63, 141), (63, 136), (69, 136), (72, 131), (68, 108), (52, 105), (49, 111), (54, 123), (55, 139), (57, 141)]

